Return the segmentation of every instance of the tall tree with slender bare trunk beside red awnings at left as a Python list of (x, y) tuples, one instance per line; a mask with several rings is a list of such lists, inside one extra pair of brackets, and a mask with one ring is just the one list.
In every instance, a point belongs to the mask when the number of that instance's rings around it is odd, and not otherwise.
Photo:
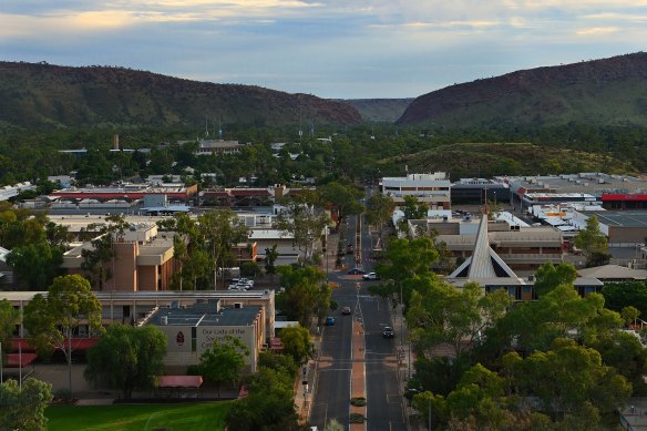
[(24, 306), (23, 325), (29, 342), (39, 352), (60, 349), (68, 361), (69, 389), (72, 392), (72, 336), (81, 321), (86, 321), (90, 332), (101, 333), (101, 302), (90, 283), (80, 275), (54, 278), (47, 296), (35, 295)]

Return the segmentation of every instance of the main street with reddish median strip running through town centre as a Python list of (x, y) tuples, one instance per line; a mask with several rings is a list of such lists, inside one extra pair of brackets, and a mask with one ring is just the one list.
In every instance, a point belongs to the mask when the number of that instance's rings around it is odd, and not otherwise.
[[(349, 217), (341, 227), (343, 237), (352, 243), (356, 238), (356, 217)], [(369, 256), (376, 238), (371, 239), (368, 226), (364, 225), (361, 226), (360, 238), (360, 244), (356, 244), (356, 254), (345, 256), (345, 265), (348, 268), (357, 266), (368, 273), (373, 269)], [(356, 260), (358, 257), (359, 264)], [(368, 286), (379, 281), (364, 281), (361, 276), (349, 276), (346, 271), (329, 273), (329, 278), (339, 284), (332, 293), (332, 299), (339, 307), (331, 314), (336, 325), (325, 327), (322, 332), (310, 423), (322, 429), (330, 419), (337, 419), (349, 428), (352, 321), (356, 320), (363, 326), (366, 346), (367, 429), (407, 430), (398, 379), (396, 340), (382, 337), (383, 327), (392, 326), (391, 309), (387, 301), (368, 294)], [(341, 315), (340, 310), (345, 306), (351, 308), (352, 315)]]

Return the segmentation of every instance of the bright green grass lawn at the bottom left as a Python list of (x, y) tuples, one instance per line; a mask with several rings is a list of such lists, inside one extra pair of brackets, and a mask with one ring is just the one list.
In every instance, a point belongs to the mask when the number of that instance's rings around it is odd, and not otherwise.
[(50, 431), (223, 430), (230, 402), (179, 404), (52, 406), (45, 410)]

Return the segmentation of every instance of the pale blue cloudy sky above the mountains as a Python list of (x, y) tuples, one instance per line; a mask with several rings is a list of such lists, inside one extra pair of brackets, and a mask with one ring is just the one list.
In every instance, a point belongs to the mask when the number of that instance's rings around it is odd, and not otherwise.
[(415, 98), (644, 51), (647, 0), (2, 0), (0, 60)]

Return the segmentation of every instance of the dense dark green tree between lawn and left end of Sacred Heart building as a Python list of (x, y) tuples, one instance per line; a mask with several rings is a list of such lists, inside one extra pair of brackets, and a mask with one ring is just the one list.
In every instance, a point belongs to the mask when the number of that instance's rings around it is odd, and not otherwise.
[(131, 399), (135, 389), (152, 389), (164, 373), (166, 336), (153, 326), (111, 325), (88, 350), (86, 380), (104, 382)]

